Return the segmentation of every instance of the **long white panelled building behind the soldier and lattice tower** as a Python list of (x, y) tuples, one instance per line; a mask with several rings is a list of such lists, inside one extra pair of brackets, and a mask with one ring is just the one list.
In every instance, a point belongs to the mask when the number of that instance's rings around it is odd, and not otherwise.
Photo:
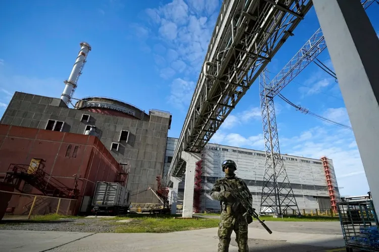
[[(167, 139), (167, 149), (164, 164), (164, 175), (167, 175), (170, 162), (177, 145), (177, 138)], [(226, 159), (236, 162), (236, 175), (247, 183), (253, 195), (253, 207), (260, 209), (261, 191), (265, 165), (265, 152), (245, 148), (207, 144), (202, 152), (202, 194), (201, 209), (219, 210), (219, 202), (210, 197), (214, 182), (224, 176), (221, 163)], [(299, 209), (315, 211), (330, 209), (330, 198), (325, 178), (324, 168), (319, 159), (282, 155)], [(328, 159), (331, 183), (335, 190), (337, 201), (340, 199), (338, 183), (333, 167), (333, 161)], [(185, 176), (183, 176), (183, 181)], [(182, 204), (184, 182), (179, 183), (178, 205)]]

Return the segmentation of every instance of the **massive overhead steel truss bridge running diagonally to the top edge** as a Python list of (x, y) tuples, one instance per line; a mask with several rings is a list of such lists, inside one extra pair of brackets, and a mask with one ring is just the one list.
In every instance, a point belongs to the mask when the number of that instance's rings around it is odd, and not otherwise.
[(311, 6), (310, 0), (223, 2), (166, 184), (185, 171), (181, 152), (201, 152)]

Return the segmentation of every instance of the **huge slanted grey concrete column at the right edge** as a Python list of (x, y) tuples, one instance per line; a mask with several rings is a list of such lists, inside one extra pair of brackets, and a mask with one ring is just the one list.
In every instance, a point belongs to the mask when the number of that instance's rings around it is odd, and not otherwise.
[(379, 40), (360, 1), (313, 5), (335, 68), (376, 211), (379, 211)]

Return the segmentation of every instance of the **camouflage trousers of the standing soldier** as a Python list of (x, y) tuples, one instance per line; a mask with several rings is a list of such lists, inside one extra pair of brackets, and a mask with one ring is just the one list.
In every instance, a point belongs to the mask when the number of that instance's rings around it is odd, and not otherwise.
[(218, 225), (218, 250), (217, 252), (228, 252), (230, 244), (230, 235), (235, 232), (235, 241), (238, 244), (239, 252), (248, 252), (248, 223), (242, 214), (234, 215), (228, 206), (222, 210), (220, 223)]

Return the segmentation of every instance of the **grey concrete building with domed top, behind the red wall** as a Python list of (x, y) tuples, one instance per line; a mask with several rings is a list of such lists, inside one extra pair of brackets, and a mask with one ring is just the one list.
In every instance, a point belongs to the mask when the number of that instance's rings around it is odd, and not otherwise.
[(72, 109), (60, 98), (15, 92), (0, 123), (95, 135), (117, 162), (130, 166), (127, 188), (131, 202), (160, 203), (146, 190), (156, 190), (157, 176), (163, 173), (169, 112), (151, 109), (147, 114), (131, 104), (104, 97), (82, 99)]

